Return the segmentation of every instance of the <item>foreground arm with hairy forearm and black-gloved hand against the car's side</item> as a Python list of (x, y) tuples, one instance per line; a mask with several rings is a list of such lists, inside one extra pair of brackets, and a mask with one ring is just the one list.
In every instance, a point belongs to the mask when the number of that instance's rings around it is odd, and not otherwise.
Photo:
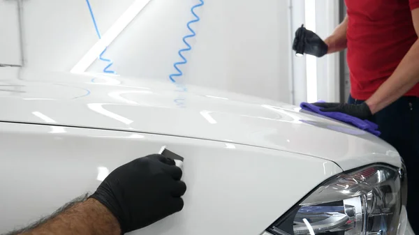
[(112, 171), (88, 197), (73, 200), (25, 229), (8, 235), (119, 235), (182, 211), (186, 184), (175, 161), (152, 154)]

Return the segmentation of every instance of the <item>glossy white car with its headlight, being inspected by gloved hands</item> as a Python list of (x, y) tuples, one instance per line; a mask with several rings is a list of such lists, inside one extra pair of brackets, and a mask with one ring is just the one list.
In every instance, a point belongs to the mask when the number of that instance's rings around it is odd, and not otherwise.
[(151, 79), (0, 68), (0, 234), (167, 146), (184, 209), (132, 234), (411, 235), (397, 151), (299, 107)]

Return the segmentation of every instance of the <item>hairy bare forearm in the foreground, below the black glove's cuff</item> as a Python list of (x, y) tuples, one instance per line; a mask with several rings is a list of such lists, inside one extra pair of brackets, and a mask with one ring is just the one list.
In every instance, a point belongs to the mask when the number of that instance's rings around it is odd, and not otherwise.
[(86, 234), (119, 235), (119, 222), (96, 199), (78, 197), (61, 207), (48, 218), (29, 227), (5, 235)]

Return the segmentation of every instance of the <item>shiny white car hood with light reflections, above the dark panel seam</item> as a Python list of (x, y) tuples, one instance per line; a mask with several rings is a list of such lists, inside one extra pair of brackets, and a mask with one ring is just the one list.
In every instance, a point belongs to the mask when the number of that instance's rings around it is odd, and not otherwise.
[(399, 167), (392, 146), (299, 107), (172, 82), (0, 69), (0, 121), (145, 132)]

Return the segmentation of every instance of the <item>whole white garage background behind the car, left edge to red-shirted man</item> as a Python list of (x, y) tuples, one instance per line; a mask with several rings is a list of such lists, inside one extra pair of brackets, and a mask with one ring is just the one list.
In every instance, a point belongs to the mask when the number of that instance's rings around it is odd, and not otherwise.
[[(135, 2), (147, 5), (105, 56), (118, 75), (167, 80), (185, 47), (191, 7), (200, 1), (90, 0), (102, 34)], [(316, 59), (295, 57), (291, 49), (303, 23), (322, 38), (330, 35), (343, 17), (343, 0), (205, 0), (196, 13), (197, 36), (188, 40), (193, 48), (185, 53), (181, 82), (292, 104), (348, 96), (343, 53)], [(84, 0), (0, 0), (0, 20), (1, 64), (70, 71), (98, 42)], [(103, 73), (106, 65), (96, 59), (87, 72)]]

